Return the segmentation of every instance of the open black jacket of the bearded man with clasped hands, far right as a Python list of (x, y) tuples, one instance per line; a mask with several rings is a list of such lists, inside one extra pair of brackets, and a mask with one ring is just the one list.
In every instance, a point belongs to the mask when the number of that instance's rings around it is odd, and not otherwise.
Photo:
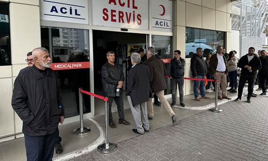
[[(241, 74), (256, 74), (257, 70), (261, 68), (261, 63), (260, 63), (259, 57), (257, 54), (254, 54), (254, 57), (248, 62), (247, 55), (248, 54), (246, 54), (240, 58), (237, 66), (242, 68)], [(251, 66), (252, 72), (249, 72), (248, 69), (244, 67), (245, 65)]]

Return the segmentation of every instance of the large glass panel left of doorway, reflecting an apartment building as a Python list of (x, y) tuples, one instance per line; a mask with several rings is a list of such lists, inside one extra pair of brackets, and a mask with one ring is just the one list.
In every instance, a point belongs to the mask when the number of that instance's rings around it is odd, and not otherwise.
[[(77, 36), (71, 39), (74, 34)], [(90, 61), (88, 30), (42, 27), (41, 45), (50, 51), (53, 63)], [(78, 88), (90, 91), (90, 69), (57, 70), (57, 73), (65, 117), (76, 116), (79, 114)], [(83, 95), (83, 107), (84, 113), (91, 112), (90, 96)]]

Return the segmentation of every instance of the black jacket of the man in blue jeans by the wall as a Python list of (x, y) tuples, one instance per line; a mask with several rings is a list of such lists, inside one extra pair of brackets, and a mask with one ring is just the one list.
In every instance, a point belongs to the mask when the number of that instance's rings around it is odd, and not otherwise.
[(207, 74), (207, 67), (203, 56), (193, 54), (193, 57), (191, 58), (191, 70), (193, 76)]

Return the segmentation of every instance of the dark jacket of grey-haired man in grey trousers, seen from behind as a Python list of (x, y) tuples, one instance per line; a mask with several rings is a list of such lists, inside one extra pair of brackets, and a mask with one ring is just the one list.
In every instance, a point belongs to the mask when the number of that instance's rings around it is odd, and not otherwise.
[(136, 64), (128, 72), (127, 95), (132, 105), (140, 105), (149, 100), (150, 69), (147, 65)]

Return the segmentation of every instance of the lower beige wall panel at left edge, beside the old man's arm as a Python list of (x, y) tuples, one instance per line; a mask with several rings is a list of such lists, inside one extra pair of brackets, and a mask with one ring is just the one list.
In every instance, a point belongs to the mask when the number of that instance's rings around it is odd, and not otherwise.
[[(0, 78), (0, 136), (14, 133), (14, 117), (11, 106), (12, 78)], [(5, 130), (3, 130), (5, 129)]]

